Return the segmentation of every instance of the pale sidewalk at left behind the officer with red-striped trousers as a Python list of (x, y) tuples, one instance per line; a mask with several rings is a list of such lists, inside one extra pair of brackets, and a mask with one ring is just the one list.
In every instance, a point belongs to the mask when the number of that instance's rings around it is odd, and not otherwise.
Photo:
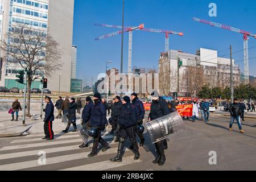
[[(8, 114), (7, 111), (0, 111), (0, 138), (2, 137), (19, 137), (25, 136), (28, 134), (42, 134), (44, 133), (44, 122), (43, 119), (40, 118), (39, 111), (32, 110), (31, 114), (34, 115), (34, 119), (30, 119), (26, 117), (26, 126), (22, 126), (22, 112), (19, 112), (19, 119), (17, 121), (11, 121), (11, 114)], [(55, 110), (55, 116), (57, 115), (57, 111)], [(44, 117), (44, 113), (43, 113)], [(110, 115), (107, 115), (107, 119), (109, 119)], [(14, 115), (14, 118), (15, 115)], [(76, 125), (79, 128), (81, 126), (81, 114), (77, 114)], [(53, 121), (53, 132), (55, 134), (61, 133), (62, 130), (66, 128), (67, 125), (62, 122), (61, 119), (55, 119)], [(71, 125), (69, 130), (73, 130), (73, 126)], [(108, 130), (108, 128), (106, 128)]]

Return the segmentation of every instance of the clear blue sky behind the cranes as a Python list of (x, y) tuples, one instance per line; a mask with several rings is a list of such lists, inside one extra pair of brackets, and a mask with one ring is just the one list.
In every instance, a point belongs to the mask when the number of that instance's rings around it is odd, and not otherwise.
[[(217, 16), (209, 16), (209, 4), (216, 3)], [(159, 28), (183, 32), (184, 36), (171, 35), (170, 49), (195, 53), (197, 49), (209, 48), (219, 51), (219, 57), (227, 55), (233, 47), (233, 59), (243, 72), (243, 35), (194, 22), (193, 17), (227, 24), (256, 34), (256, 1), (219, 0), (125, 0), (125, 26)], [(77, 78), (91, 84), (100, 73), (109, 68), (120, 68), (121, 35), (102, 40), (95, 38), (119, 31), (118, 28), (98, 27), (94, 23), (122, 24), (122, 0), (75, 0), (73, 44), (77, 46)], [(124, 35), (123, 71), (127, 71), (128, 33)], [(224, 51), (225, 50), (225, 51)], [(160, 53), (164, 52), (164, 34), (134, 31), (132, 65), (158, 68)], [(224, 56), (225, 55), (225, 56)], [(250, 75), (256, 76), (256, 39), (249, 39)]]

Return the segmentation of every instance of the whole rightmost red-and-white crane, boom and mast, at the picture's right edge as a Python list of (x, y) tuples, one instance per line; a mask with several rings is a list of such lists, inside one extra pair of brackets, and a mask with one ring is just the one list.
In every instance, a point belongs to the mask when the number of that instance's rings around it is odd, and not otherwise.
[(245, 64), (244, 65), (245, 66), (245, 82), (246, 82), (246, 84), (249, 84), (249, 53), (248, 53), (248, 39), (249, 38), (248, 37), (252, 36), (253, 38), (256, 39), (256, 34), (252, 34), (251, 32), (247, 32), (244, 30), (240, 30), (239, 28), (230, 27), (225, 24), (210, 22), (210, 21), (204, 20), (204, 19), (193, 18), (193, 20), (196, 22), (209, 24), (212, 27), (223, 28), (225, 30), (243, 34), (243, 56), (244, 56), (243, 59), (244, 59), (244, 64)]

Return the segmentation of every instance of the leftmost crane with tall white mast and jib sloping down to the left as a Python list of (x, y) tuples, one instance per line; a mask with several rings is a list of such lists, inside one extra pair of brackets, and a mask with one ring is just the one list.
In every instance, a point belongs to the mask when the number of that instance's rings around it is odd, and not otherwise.
[[(128, 51), (128, 72), (129, 73), (131, 73), (131, 53), (132, 53), (132, 47), (133, 47), (133, 31), (143, 30), (143, 28), (144, 28), (144, 24), (140, 24), (138, 27), (125, 27), (123, 31), (123, 32), (129, 32), (129, 51)], [(122, 31), (117, 31), (110, 34), (102, 35), (99, 38), (96, 38), (95, 40), (109, 38), (110, 36), (115, 36), (118, 34), (122, 34)]]

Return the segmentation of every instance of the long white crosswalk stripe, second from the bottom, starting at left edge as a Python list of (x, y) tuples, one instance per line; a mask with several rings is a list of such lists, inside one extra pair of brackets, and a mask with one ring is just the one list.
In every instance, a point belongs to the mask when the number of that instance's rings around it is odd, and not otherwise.
[[(107, 150), (105, 152), (100, 152), (98, 155), (114, 154), (116, 152), (117, 152), (117, 148), (109, 148), (109, 150)], [(71, 155), (57, 156), (54, 158), (46, 158), (46, 165), (56, 164), (56, 163), (61, 163), (61, 162), (69, 162), (69, 161), (77, 160), (77, 159), (89, 158), (87, 156), (88, 154), (90, 154), (90, 152), (82, 152), (80, 154), (71, 154)], [(37, 160), (30, 160), (30, 161), (26, 161), (26, 162), (20, 162), (20, 163), (0, 165), (0, 170), (1, 171), (14, 171), (14, 170), (19, 170), (19, 169), (26, 169), (26, 168), (40, 167), (40, 166), (41, 165), (38, 164), (38, 159), (37, 159)]]

